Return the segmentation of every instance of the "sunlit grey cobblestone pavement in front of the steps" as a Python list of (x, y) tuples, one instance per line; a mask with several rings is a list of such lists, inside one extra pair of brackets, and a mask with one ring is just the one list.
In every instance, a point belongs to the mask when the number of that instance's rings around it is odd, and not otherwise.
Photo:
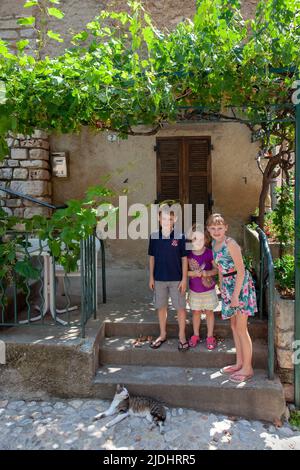
[(165, 433), (145, 418), (93, 422), (104, 400), (0, 400), (0, 449), (298, 449), (300, 430), (187, 409), (169, 409)]

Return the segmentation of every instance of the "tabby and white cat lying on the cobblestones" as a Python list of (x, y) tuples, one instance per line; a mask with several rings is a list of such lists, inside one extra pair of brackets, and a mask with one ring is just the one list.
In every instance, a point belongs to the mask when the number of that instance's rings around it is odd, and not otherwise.
[(165, 407), (153, 398), (135, 396), (130, 397), (128, 390), (123, 385), (117, 385), (116, 393), (110, 407), (94, 417), (94, 421), (107, 416), (117, 415), (106, 427), (114, 426), (127, 416), (139, 416), (146, 418), (150, 423), (159, 426), (163, 434), (163, 426), (166, 420)]

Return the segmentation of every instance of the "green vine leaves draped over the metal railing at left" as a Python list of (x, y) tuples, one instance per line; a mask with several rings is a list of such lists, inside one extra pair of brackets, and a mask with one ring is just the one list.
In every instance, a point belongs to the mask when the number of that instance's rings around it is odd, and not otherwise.
[[(15, 276), (21, 283), (39, 277), (27, 253), (25, 231), (46, 241), (51, 255), (66, 272), (76, 271), (80, 241), (94, 233), (101, 220), (97, 208), (114, 196), (115, 193), (103, 185), (91, 187), (85, 198), (68, 201), (67, 208), (56, 210), (50, 218), (35, 215), (32, 219), (19, 219), (0, 208), (0, 280), (7, 286), (16, 279)], [(16, 224), (19, 227), (21, 224), (20, 231)]]

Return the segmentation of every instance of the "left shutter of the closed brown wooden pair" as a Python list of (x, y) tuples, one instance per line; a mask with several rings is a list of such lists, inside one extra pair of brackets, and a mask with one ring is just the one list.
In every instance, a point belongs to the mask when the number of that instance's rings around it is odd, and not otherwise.
[(157, 200), (179, 200), (181, 196), (181, 139), (159, 139), (157, 142)]

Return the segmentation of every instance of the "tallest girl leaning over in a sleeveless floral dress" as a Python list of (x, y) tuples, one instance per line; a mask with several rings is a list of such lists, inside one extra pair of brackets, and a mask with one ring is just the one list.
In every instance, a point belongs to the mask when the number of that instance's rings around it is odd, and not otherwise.
[(226, 236), (228, 225), (220, 214), (207, 221), (211, 235), (214, 262), (219, 270), (222, 297), (222, 318), (230, 319), (236, 348), (236, 364), (224, 367), (222, 373), (230, 380), (245, 382), (253, 376), (252, 341), (248, 332), (248, 317), (257, 312), (254, 283), (244, 267), (241, 248)]

